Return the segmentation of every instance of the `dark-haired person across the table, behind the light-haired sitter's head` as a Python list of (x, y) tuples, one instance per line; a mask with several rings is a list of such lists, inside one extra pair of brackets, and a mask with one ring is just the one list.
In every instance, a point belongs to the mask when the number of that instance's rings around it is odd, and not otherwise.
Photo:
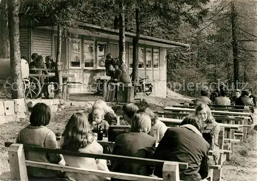
[(120, 121), (120, 125), (131, 125), (132, 118), (138, 111), (137, 105), (134, 103), (125, 104), (122, 107), (122, 111), (123, 120)]

